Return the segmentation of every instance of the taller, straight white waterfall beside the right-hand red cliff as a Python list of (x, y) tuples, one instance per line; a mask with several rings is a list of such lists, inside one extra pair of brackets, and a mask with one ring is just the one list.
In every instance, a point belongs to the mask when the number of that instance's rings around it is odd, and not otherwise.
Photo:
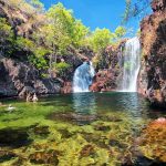
[(137, 37), (125, 44), (122, 91), (137, 91), (137, 75), (141, 68), (141, 43)]

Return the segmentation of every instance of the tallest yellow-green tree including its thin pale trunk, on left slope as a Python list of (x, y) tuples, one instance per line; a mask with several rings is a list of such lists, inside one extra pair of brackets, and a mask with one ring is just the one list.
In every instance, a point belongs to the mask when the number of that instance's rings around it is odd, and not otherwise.
[(49, 73), (53, 70), (53, 63), (56, 64), (58, 54), (66, 51), (71, 44), (69, 37), (73, 22), (72, 11), (66, 10), (62, 3), (52, 6), (46, 12), (46, 23), (40, 29), (40, 38), (50, 50)]

